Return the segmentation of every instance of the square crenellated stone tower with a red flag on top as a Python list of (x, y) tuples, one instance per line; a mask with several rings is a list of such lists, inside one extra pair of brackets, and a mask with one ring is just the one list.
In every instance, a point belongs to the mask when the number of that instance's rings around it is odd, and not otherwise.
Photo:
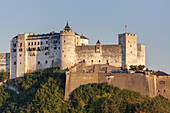
[(129, 69), (131, 65), (137, 65), (137, 35), (119, 34), (119, 44), (122, 45), (122, 67)]

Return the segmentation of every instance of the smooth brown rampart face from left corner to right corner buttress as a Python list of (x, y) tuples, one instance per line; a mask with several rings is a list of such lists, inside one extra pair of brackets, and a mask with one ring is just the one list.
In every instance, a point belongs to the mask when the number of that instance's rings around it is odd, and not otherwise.
[(150, 97), (156, 96), (154, 75), (139, 73), (66, 73), (65, 99), (78, 87), (88, 83), (103, 83), (140, 92)]

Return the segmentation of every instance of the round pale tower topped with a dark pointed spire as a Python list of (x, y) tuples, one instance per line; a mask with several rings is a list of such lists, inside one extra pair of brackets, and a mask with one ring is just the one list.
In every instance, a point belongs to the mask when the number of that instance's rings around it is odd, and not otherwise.
[(72, 31), (68, 22), (63, 31), (60, 31), (61, 69), (75, 64), (75, 31)]

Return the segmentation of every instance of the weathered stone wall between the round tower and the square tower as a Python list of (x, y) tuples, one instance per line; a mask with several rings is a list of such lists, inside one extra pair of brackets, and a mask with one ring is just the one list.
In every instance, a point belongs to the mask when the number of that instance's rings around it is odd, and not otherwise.
[[(99, 49), (99, 50), (98, 50)], [(122, 66), (121, 45), (76, 46), (76, 62), (86, 61), (87, 65), (109, 64), (115, 67)]]

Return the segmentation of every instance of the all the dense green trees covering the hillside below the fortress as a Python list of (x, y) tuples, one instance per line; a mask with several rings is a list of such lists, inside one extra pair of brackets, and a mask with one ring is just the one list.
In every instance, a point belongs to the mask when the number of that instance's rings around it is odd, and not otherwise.
[[(12, 84), (12, 81), (9, 81)], [(64, 101), (65, 74), (55, 68), (25, 74), (17, 80), (20, 94), (0, 87), (2, 113), (119, 113), (170, 111), (170, 101), (162, 96), (150, 98), (121, 90), (107, 83), (87, 84), (77, 88)]]

